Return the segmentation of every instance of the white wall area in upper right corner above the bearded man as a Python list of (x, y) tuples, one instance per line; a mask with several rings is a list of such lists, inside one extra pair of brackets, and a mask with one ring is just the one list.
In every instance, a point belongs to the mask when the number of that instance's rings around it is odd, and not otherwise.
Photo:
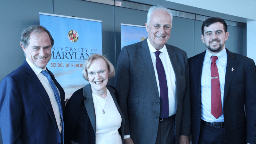
[(186, 5), (191, 12), (247, 24), (247, 57), (256, 62), (256, 0), (165, 0)]

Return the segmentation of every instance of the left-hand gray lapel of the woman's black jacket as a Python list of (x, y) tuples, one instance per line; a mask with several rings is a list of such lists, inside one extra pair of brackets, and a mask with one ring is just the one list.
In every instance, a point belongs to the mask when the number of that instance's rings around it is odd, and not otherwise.
[(94, 109), (93, 99), (92, 99), (91, 84), (87, 84), (84, 86), (84, 97), (87, 98), (86, 100), (84, 100), (84, 105), (88, 113), (88, 116), (90, 118), (90, 121), (92, 123), (94, 134), (96, 136), (96, 115), (95, 115), (95, 109)]

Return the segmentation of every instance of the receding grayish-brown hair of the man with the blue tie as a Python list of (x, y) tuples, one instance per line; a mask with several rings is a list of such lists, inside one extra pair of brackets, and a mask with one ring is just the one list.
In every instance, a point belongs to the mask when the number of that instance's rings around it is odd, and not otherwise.
[(42, 32), (46, 32), (48, 34), (48, 36), (50, 37), (50, 40), (51, 40), (51, 46), (53, 46), (54, 40), (52, 38), (52, 35), (44, 26), (40, 26), (40, 25), (29, 26), (28, 28), (23, 30), (21, 33), (20, 43), (25, 48), (27, 48), (29, 45), (30, 35), (31, 34), (40, 34)]

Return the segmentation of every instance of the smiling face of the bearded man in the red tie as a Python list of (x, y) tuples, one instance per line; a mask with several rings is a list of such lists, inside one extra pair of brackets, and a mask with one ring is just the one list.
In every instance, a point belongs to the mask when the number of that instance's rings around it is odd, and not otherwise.
[(215, 22), (208, 27), (204, 27), (204, 35), (201, 36), (206, 49), (212, 54), (216, 54), (225, 48), (225, 41), (228, 40), (229, 33), (224, 31), (224, 26), (220, 22)]

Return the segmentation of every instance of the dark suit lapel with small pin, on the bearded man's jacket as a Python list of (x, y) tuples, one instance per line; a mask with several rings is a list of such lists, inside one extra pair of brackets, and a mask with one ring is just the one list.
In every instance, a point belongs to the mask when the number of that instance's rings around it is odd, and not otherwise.
[[(236, 56), (228, 51), (228, 49), (226, 49), (227, 51), (227, 55), (228, 55), (228, 60), (227, 60), (227, 68), (226, 68), (226, 76), (225, 76), (225, 87), (224, 87), (224, 98), (223, 98), (223, 101), (225, 101), (226, 97), (227, 97), (227, 93), (228, 93), (228, 88), (229, 88), (229, 85), (233, 79), (233, 76), (236, 72), (236, 68), (237, 68), (237, 64), (238, 64), (238, 61), (235, 60), (236, 59)], [(233, 69), (233, 71), (232, 71)]]

